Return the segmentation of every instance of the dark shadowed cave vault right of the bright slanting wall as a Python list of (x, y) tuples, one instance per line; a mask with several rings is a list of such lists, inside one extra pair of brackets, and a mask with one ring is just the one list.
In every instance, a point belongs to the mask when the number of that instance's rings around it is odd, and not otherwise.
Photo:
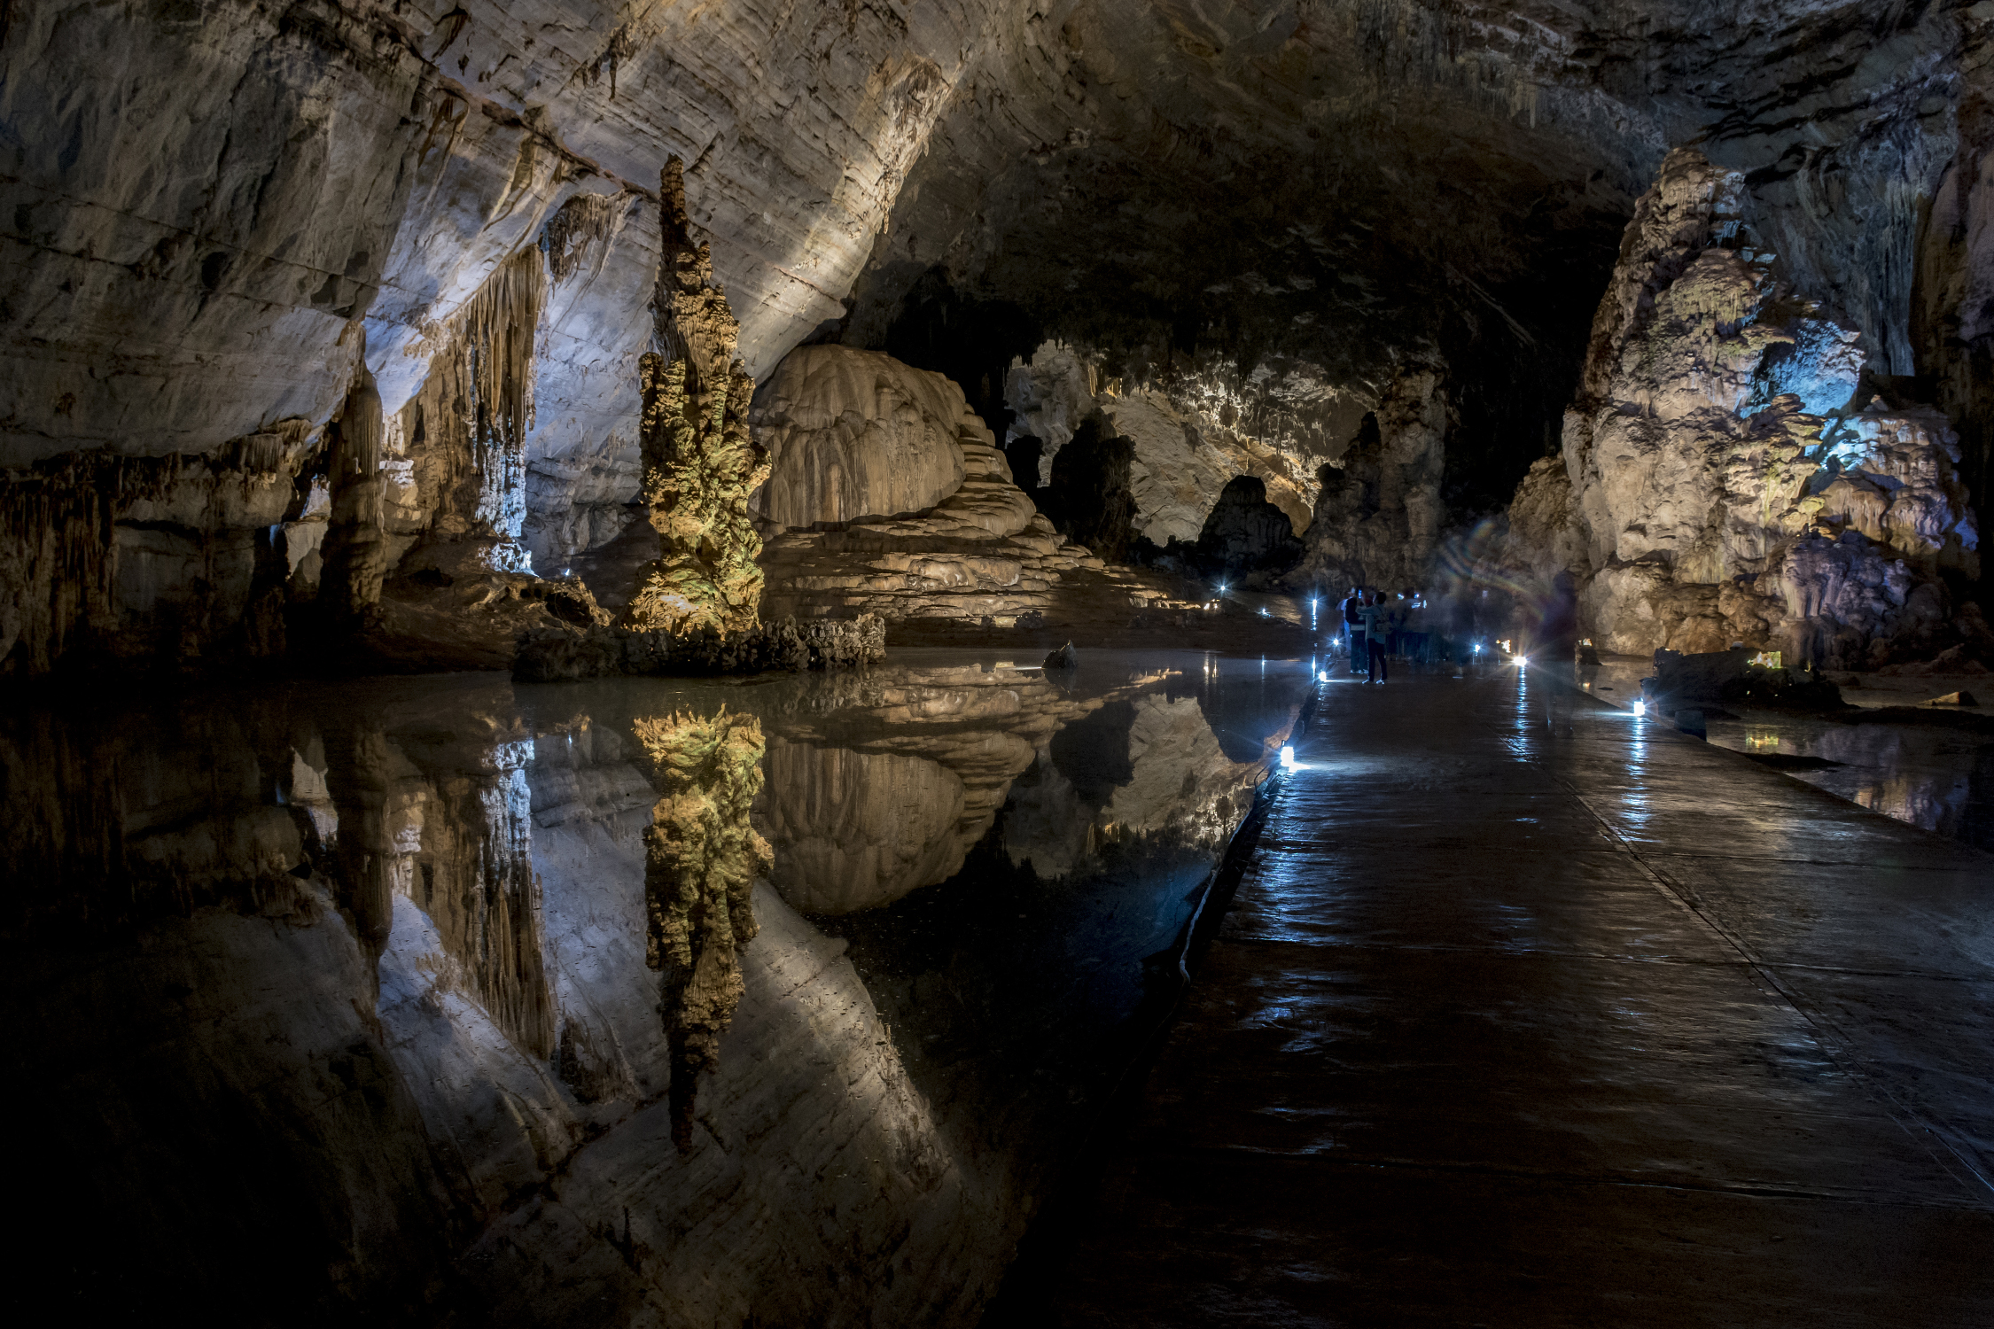
[[(1699, 141), (1795, 279), (1910, 373), (1870, 231), (1950, 155), (1940, 4), (1025, 6), (899, 191), (847, 337), (947, 273), (1121, 353), (1555, 359), (1569, 387), (1633, 199)], [(1864, 227), (1870, 227), (1866, 231)]]

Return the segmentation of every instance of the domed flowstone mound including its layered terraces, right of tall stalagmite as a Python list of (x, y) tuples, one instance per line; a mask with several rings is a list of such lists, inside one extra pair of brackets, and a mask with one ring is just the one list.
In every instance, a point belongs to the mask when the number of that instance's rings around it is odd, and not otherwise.
[[(776, 518), (762, 550), (764, 620), (1015, 622), (1051, 608), (1063, 576), (1101, 568), (1011, 482), (953, 383), (845, 347), (792, 359), (802, 365), (780, 367), (756, 404), (756, 434), (774, 462), (750, 502)], [(895, 466), (919, 448), (931, 450), (923, 466)], [(909, 498), (929, 502), (907, 512), (899, 504)], [(822, 516), (831, 510), (843, 516)]]

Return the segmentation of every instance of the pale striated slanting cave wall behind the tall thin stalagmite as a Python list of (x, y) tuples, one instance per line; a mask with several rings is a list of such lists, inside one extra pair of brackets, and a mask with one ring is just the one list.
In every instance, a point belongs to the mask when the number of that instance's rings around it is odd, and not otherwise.
[[(243, 550), (305, 504), (181, 504), (166, 530), (134, 514), (122, 468), (84, 476), (64, 458), (185, 470), (301, 434), (303, 456), (241, 480), (287, 488), (323, 476), (363, 363), (383, 410), (387, 574), (437, 542), (504, 572), (584, 564), (634, 518), (664, 157), (690, 163), (692, 219), (762, 373), (841, 313), (991, 8), (8, 6), (8, 669), (46, 671), (84, 638), (160, 654), (134, 646), (160, 636), (150, 608), (108, 588), (134, 578), (122, 548), (167, 536), (169, 558), (128, 560), (189, 624), (166, 658), (243, 654), (233, 586), (263, 566)], [(58, 478), (24, 470), (38, 462)], [(100, 484), (112, 492), (50, 498)], [(88, 502), (96, 552), (50, 524)], [(315, 548), (313, 524), (291, 534), (277, 582)], [(459, 554), (417, 562), (449, 574)], [(305, 572), (285, 600), (313, 598)]]

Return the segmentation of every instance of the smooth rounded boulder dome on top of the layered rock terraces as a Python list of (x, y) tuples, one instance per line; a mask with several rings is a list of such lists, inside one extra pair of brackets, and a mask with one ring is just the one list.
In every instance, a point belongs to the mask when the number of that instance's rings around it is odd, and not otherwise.
[(770, 476), (750, 510), (792, 528), (925, 512), (967, 476), (965, 408), (953, 383), (879, 351), (798, 347), (754, 395)]

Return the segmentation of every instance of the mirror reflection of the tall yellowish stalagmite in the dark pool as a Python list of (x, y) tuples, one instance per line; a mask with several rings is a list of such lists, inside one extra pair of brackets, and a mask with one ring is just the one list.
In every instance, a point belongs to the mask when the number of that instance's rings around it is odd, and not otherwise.
[(668, 968), (660, 1014), (672, 1040), (672, 1138), (692, 1146), (694, 1078), (720, 1064), (742, 1000), (740, 948), (754, 940), (750, 889), (774, 863), (748, 825), (762, 791), (762, 721), (674, 713), (638, 719), (662, 795), (644, 831), (646, 962)]

